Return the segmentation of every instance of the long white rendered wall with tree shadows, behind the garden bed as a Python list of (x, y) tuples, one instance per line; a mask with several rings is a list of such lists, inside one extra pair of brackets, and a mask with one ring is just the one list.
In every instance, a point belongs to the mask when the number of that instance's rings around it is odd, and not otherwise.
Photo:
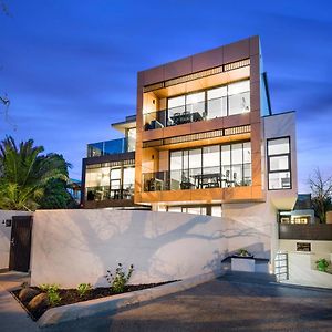
[(218, 272), (231, 250), (245, 247), (267, 257), (268, 228), (245, 212), (219, 218), (106, 209), (37, 211), (31, 283), (106, 286), (103, 276), (118, 262), (135, 266), (132, 283)]

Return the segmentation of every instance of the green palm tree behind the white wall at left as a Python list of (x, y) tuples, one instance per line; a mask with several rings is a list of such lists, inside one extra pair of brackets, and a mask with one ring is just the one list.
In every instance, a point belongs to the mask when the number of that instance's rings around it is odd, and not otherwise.
[(0, 209), (35, 210), (50, 179), (68, 179), (64, 158), (43, 151), (33, 139), (19, 147), (11, 136), (0, 142)]

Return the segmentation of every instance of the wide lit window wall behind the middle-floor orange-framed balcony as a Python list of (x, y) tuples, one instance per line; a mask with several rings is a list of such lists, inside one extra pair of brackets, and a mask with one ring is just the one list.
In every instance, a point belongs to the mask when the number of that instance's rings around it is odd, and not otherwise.
[(250, 142), (170, 152), (170, 189), (249, 185)]

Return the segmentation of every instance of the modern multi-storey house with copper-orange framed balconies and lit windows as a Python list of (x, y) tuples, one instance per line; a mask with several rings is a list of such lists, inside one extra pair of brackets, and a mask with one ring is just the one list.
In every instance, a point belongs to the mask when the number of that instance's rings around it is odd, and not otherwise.
[(294, 112), (272, 114), (258, 37), (139, 72), (136, 116), (113, 126), (125, 138), (89, 145), (83, 160), (84, 207), (277, 228), (294, 205)]

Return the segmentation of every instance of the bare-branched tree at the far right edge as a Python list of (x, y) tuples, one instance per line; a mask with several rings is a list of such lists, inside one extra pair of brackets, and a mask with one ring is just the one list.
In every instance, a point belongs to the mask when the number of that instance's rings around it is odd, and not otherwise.
[(324, 177), (317, 168), (309, 179), (312, 206), (320, 222), (326, 222), (326, 211), (332, 209), (332, 176)]

